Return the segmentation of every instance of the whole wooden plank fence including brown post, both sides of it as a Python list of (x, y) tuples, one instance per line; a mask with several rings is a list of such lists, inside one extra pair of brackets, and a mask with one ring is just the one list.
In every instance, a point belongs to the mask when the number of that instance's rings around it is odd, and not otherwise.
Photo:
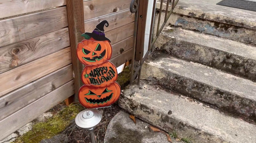
[(111, 62), (132, 59), (130, 1), (1, 0), (0, 141), (77, 93), (83, 66), (75, 51), (82, 32), (108, 20)]

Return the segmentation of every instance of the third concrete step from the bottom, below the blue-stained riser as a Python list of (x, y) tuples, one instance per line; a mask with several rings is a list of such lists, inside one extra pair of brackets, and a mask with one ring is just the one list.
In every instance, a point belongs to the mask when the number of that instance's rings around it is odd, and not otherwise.
[(256, 81), (256, 47), (184, 29), (165, 28), (156, 44), (170, 55)]

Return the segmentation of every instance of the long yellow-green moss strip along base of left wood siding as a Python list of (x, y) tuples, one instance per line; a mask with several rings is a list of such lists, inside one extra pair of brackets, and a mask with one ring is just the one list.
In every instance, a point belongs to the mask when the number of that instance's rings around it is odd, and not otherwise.
[(84, 110), (80, 103), (71, 104), (46, 122), (39, 122), (33, 125), (32, 130), (17, 138), (15, 143), (37, 143), (42, 139), (51, 138), (62, 132), (71, 124), (71, 120)]

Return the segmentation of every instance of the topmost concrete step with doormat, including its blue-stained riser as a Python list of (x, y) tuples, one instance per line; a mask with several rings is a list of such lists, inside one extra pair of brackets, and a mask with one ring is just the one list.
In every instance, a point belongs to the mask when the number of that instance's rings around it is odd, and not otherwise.
[[(256, 12), (219, 6), (217, 2), (180, 0), (167, 24), (256, 45)], [(163, 21), (164, 14), (161, 17)]]

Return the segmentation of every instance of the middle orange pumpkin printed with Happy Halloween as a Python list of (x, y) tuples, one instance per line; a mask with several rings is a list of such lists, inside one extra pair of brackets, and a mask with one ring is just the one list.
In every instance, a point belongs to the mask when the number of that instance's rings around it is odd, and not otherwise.
[(107, 61), (98, 66), (85, 66), (82, 72), (82, 81), (85, 85), (105, 87), (117, 79), (116, 66)]

